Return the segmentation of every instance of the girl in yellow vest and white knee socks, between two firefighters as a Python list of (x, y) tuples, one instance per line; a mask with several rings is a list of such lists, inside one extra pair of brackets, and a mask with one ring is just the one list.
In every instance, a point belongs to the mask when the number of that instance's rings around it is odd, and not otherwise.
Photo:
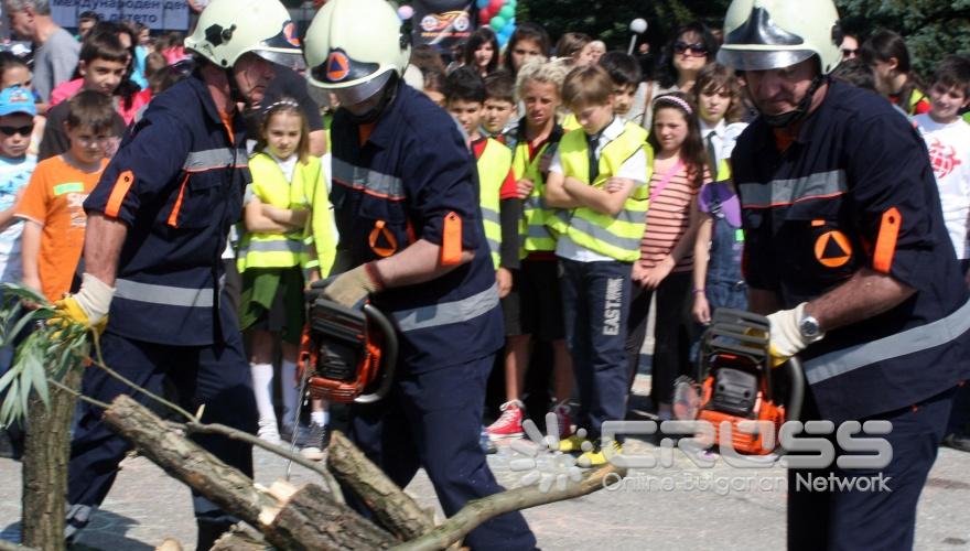
[[(242, 274), (239, 326), (250, 331), (250, 368), (259, 410), (259, 437), (280, 443), (280, 426), (272, 403), (272, 353), (276, 341), (282, 349), (282, 433), (292, 437), (299, 430), (297, 358), (304, 325), (303, 270), (312, 257), (306, 241), (311, 212), (326, 199), (320, 159), (310, 155), (306, 120), (297, 101), (283, 98), (266, 108), (259, 128), (256, 153), (249, 160), (252, 183), (246, 193), (244, 235), (237, 255)], [(324, 208), (328, 213), (328, 208)], [(324, 220), (325, 222), (325, 220)], [(313, 236), (317, 237), (317, 236)], [(331, 250), (333, 247), (331, 247)], [(333, 253), (316, 263), (332, 263)], [(328, 266), (327, 266), (328, 269)], [(319, 276), (316, 276), (319, 277)], [(306, 455), (322, 453), (325, 412), (314, 411)]]

